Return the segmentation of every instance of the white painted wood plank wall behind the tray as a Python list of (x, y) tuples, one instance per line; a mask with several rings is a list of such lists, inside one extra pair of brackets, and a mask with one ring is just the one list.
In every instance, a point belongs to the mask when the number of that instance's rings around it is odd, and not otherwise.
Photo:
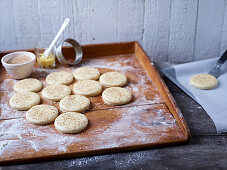
[(60, 38), (81, 44), (139, 41), (154, 61), (190, 62), (227, 49), (226, 0), (0, 0), (0, 51), (47, 46)]

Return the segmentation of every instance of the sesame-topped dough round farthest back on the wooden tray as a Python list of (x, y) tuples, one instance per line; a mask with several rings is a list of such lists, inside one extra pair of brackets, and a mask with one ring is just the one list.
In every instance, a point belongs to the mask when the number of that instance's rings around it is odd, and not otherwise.
[(100, 72), (93, 67), (80, 67), (73, 72), (73, 76), (76, 80), (97, 80)]

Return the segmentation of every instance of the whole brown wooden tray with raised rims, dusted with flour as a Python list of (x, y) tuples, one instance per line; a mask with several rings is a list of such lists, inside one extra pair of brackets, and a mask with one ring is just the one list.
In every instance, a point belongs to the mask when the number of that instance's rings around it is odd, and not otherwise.
[[(87, 129), (80, 134), (62, 134), (53, 124), (27, 123), (24, 111), (10, 108), (8, 101), (15, 93), (13, 85), (17, 80), (11, 79), (1, 65), (1, 164), (157, 147), (188, 140), (190, 132), (180, 110), (137, 42), (85, 45), (83, 51), (80, 65), (57, 64), (50, 70), (36, 66), (31, 77), (40, 79), (45, 87), (45, 77), (52, 71), (72, 72), (81, 66), (99, 68), (101, 73), (115, 70), (127, 75), (126, 88), (132, 91), (132, 101), (127, 105), (109, 106), (101, 95), (91, 97), (91, 108), (85, 113), (89, 119)], [(9, 52), (12, 51), (0, 53), (0, 57)], [(72, 57), (72, 48), (65, 48), (64, 54)], [(41, 103), (58, 107), (58, 103), (44, 99)]]

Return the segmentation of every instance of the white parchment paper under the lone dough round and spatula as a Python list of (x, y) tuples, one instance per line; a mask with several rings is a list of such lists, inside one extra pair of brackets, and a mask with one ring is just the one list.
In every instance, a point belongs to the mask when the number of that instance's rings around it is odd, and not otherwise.
[(218, 133), (227, 132), (227, 63), (218, 77), (218, 87), (199, 90), (189, 84), (190, 78), (199, 73), (208, 73), (218, 58), (173, 65), (161, 69), (170, 80), (196, 100), (214, 121)]

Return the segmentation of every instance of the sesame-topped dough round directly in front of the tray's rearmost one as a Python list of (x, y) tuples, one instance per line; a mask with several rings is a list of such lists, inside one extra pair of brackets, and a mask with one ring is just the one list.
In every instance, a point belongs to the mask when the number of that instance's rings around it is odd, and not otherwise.
[(86, 97), (97, 96), (102, 91), (102, 86), (95, 80), (81, 80), (74, 84), (73, 92)]

